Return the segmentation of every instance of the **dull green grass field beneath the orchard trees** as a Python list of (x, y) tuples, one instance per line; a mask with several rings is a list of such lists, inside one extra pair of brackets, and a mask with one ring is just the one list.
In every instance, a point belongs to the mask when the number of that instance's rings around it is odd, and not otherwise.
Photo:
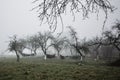
[(0, 80), (120, 80), (120, 67), (69, 59), (1, 59)]

